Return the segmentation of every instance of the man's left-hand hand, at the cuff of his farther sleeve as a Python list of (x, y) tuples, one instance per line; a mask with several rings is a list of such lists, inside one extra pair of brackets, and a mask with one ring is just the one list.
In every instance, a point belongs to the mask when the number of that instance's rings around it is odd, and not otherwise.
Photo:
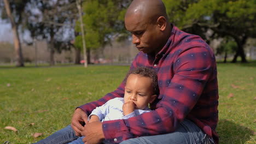
[(84, 123), (88, 123), (88, 116), (82, 109), (76, 109), (71, 120), (71, 127), (75, 131), (75, 135), (82, 136), (84, 130)]

